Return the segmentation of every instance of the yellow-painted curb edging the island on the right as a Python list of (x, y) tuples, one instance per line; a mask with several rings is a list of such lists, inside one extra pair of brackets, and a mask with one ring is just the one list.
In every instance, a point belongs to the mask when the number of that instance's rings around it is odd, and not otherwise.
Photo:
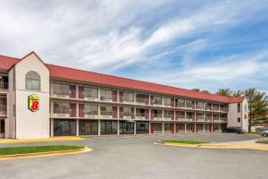
[(255, 149), (268, 151), (268, 147), (261, 146), (243, 146), (243, 145), (214, 145), (214, 144), (185, 144), (185, 143), (158, 143), (166, 146), (176, 146), (185, 148), (200, 148), (200, 149)]

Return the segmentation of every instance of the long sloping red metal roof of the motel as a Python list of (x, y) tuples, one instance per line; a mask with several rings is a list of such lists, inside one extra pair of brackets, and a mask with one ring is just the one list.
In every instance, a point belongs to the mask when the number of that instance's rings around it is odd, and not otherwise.
[[(8, 71), (13, 64), (19, 62), (19, 58), (0, 55), (0, 69)], [(50, 72), (50, 76), (71, 81), (87, 81), (96, 84), (103, 84), (112, 87), (119, 87), (128, 90), (143, 90), (152, 93), (162, 93), (165, 95), (181, 96), (187, 98), (199, 98), (204, 100), (218, 101), (222, 103), (238, 103), (244, 100), (244, 97), (229, 98), (222, 97), (215, 94), (208, 94), (204, 92), (197, 92), (193, 90), (185, 90), (152, 82), (136, 81), (127, 78), (116, 77), (113, 75), (106, 75), (97, 72), (87, 72), (78, 69), (58, 66), (54, 64), (45, 64)]]

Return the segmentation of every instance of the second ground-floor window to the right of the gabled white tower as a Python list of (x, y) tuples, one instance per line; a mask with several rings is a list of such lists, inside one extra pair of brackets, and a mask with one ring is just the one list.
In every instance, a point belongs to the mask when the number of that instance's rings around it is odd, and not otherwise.
[(96, 120), (80, 120), (80, 135), (97, 135), (98, 123)]

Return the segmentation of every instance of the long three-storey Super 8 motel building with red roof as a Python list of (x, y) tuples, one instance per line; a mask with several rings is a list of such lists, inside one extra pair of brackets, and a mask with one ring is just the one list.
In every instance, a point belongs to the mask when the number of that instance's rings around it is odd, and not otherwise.
[(42, 139), (247, 130), (247, 99), (228, 98), (0, 55), (0, 137)]

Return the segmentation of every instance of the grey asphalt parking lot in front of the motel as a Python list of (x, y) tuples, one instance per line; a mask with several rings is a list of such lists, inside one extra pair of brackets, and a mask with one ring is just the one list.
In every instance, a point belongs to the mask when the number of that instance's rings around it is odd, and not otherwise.
[[(44, 142), (87, 145), (93, 151), (69, 156), (0, 162), (0, 178), (267, 178), (268, 152), (247, 149), (191, 149), (155, 145), (158, 140), (244, 141), (236, 134), (87, 137), (86, 141)], [(38, 145), (39, 145), (38, 144)], [(37, 145), (1, 144), (4, 146)]]

